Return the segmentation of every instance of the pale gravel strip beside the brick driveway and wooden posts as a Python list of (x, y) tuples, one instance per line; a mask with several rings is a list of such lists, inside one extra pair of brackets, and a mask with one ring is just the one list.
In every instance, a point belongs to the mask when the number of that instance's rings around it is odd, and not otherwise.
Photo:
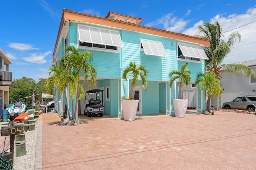
[[(4, 123), (6, 124), (6, 122), (4, 122)], [(1, 124), (3, 124), (3, 123), (1, 123)], [(35, 156), (36, 156), (37, 132), (38, 132), (38, 122), (36, 121), (35, 122), (35, 130), (25, 132), (25, 140), (26, 140), (26, 154), (25, 155), (16, 157), (16, 147), (14, 145), (14, 162), (13, 163), (14, 163), (15, 170), (34, 170)], [(7, 145), (8, 144), (9, 143), (7, 143)]]

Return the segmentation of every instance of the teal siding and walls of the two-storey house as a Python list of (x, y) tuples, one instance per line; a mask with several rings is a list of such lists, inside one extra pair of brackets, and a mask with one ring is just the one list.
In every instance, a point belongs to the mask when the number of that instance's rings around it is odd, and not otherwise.
[[(96, 25), (91, 26), (97, 27)], [(122, 71), (128, 66), (130, 61), (132, 61), (136, 62), (136, 64), (146, 66), (146, 69), (149, 71), (147, 78), (148, 92), (142, 89), (142, 114), (159, 113), (159, 110), (167, 110), (167, 114), (170, 114), (169, 111), (172, 111), (171, 115), (174, 115), (174, 108), (173, 105), (170, 106), (170, 101), (174, 98), (178, 98), (178, 86), (176, 86), (176, 92), (174, 84), (172, 85), (172, 89), (169, 88), (170, 78), (168, 77), (168, 74), (172, 70), (180, 70), (180, 66), (186, 63), (186, 61), (177, 60), (177, 41), (166, 37), (158, 37), (134, 31), (118, 31), (120, 32), (122, 43), (124, 45), (124, 47), (119, 48), (118, 52), (89, 50), (92, 51), (93, 54), (92, 64), (97, 69), (98, 88), (100, 89), (100, 87), (104, 87), (105, 114), (118, 115), (118, 103), (120, 104), (118, 88), (123, 90), (122, 96), (128, 98), (130, 84), (128, 84), (127, 81), (122, 81), (123, 83), (121, 84), (120, 79), (122, 78)], [(77, 37), (78, 26), (76, 23), (71, 23), (71, 26), (69, 26), (69, 44), (77, 47)], [(144, 51), (140, 51), (140, 39), (162, 42), (168, 57), (145, 55)], [(63, 38), (61, 41), (62, 42), (57, 53), (58, 58), (64, 55)], [(172, 45), (172, 43), (175, 45)], [(84, 51), (84, 49), (80, 50)], [(187, 62), (189, 63), (187, 68), (192, 72), (191, 82), (195, 82), (197, 74), (199, 72), (204, 72), (204, 60), (202, 60), (202, 63)], [(83, 72), (81, 73), (81, 76), (84, 76)], [(129, 73), (127, 78), (132, 79), (132, 74)], [(167, 83), (158, 83), (157, 81)], [(106, 86), (110, 86), (110, 101), (106, 101)], [(138, 82), (137, 86), (141, 86), (141, 81)], [(166, 88), (166, 86), (168, 87)], [(200, 90), (198, 90), (198, 94), (200, 94)], [(205, 96), (203, 96), (203, 100), (205, 102)], [(203, 106), (200, 106), (200, 102), (200, 95), (198, 95), (198, 108), (205, 108), (204, 102)], [(72, 106), (71, 101), (69, 101), (69, 103), (70, 106)]]

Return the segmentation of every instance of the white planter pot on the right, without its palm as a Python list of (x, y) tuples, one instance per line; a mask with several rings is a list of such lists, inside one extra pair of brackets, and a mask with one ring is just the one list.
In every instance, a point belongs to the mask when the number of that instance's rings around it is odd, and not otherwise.
[(188, 100), (182, 99), (173, 99), (173, 106), (174, 106), (174, 114), (175, 117), (185, 117), (186, 110), (188, 107)]

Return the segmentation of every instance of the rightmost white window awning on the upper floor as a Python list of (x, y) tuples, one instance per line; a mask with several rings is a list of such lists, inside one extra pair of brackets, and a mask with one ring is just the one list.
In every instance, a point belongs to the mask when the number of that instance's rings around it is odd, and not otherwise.
[(201, 46), (189, 45), (184, 43), (178, 43), (178, 46), (180, 47), (180, 50), (185, 57), (208, 60), (208, 57), (206, 53), (204, 53), (204, 50)]

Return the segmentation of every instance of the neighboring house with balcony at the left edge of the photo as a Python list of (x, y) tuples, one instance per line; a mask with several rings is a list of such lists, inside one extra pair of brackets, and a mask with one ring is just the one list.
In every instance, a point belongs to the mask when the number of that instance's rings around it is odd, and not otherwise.
[(0, 117), (2, 110), (9, 104), (9, 86), (13, 86), (9, 64), (12, 64), (12, 61), (0, 48)]

